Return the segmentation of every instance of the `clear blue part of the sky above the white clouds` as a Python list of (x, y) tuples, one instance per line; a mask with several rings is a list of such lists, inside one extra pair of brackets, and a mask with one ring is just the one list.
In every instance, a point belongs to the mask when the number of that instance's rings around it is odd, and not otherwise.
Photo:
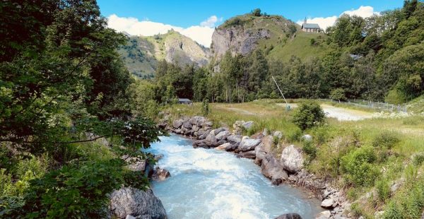
[(278, 14), (291, 20), (307, 17), (329, 17), (343, 11), (372, 6), (375, 11), (399, 8), (403, 0), (323, 0), (323, 1), (284, 1), (284, 0), (215, 0), (215, 1), (145, 1), (145, 0), (98, 0), (103, 16), (116, 14), (120, 17), (134, 17), (139, 20), (152, 20), (160, 23), (188, 28), (199, 24), (209, 16), (228, 19), (247, 13), (253, 8), (261, 8), (269, 14)]

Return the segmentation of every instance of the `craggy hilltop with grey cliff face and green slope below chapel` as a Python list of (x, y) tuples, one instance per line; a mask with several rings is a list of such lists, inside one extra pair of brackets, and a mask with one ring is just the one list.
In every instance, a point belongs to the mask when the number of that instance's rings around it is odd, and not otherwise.
[(327, 49), (325, 39), (324, 34), (302, 32), (300, 25), (283, 16), (247, 13), (216, 28), (211, 51), (219, 59), (228, 50), (245, 55), (261, 48), (269, 58), (288, 61), (293, 55), (301, 59), (322, 56)]

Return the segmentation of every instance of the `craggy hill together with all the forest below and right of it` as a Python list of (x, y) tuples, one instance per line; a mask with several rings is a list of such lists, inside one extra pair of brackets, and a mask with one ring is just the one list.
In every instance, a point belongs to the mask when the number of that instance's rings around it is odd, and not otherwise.
[[(248, 13), (216, 28), (208, 66), (174, 81), (160, 75), (153, 81), (189, 90), (177, 96), (196, 101), (278, 97), (273, 76), (286, 97), (404, 103), (423, 94), (423, 20), (424, 4), (416, 0), (370, 18), (343, 15), (326, 34), (302, 32), (279, 16)], [(169, 72), (184, 75), (182, 69)], [(166, 85), (160, 86), (164, 92)]]

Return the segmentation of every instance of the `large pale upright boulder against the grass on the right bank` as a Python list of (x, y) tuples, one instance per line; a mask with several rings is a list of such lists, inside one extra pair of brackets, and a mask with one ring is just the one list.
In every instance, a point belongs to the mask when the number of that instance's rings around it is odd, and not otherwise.
[(281, 164), (288, 172), (299, 172), (303, 168), (303, 156), (300, 151), (291, 145), (283, 149)]

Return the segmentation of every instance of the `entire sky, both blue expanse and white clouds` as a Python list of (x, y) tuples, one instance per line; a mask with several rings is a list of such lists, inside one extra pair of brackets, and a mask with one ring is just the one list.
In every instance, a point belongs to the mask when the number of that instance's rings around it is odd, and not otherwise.
[(333, 25), (342, 13), (367, 18), (394, 8), (403, 0), (214, 0), (214, 1), (145, 1), (98, 0), (108, 25), (119, 32), (151, 36), (177, 30), (199, 44), (209, 47), (213, 30), (228, 18), (248, 13), (254, 8), (271, 15), (302, 23), (317, 23), (322, 29)]

